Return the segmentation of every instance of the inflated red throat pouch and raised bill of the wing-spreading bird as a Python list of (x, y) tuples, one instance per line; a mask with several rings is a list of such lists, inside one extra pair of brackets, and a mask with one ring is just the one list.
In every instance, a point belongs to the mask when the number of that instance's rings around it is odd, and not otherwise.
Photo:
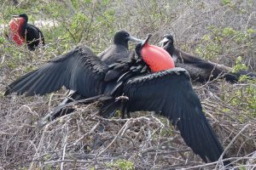
[(142, 43), (141, 56), (152, 72), (165, 71), (175, 67), (172, 56), (165, 49), (148, 44), (148, 35)]

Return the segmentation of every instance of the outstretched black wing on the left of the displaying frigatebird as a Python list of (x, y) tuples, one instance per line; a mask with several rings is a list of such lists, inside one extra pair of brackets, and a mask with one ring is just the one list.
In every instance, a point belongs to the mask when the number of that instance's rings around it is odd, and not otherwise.
[(107, 71), (108, 66), (90, 48), (79, 46), (12, 82), (5, 95), (44, 95), (65, 86), (78, 94), (92, 97), (102, 94), (105, 88), (103, 79)]

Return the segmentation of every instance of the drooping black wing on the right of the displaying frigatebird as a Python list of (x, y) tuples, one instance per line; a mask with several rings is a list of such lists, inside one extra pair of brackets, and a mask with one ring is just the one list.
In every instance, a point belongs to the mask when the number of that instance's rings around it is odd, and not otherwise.
[(134, 77), (124, 95), (129, 111), (156, 111), (179, 129), (184, 141), (204, 161), (218, 161), (223, 147), (207, 122), (189, 73), (182, 68)]

